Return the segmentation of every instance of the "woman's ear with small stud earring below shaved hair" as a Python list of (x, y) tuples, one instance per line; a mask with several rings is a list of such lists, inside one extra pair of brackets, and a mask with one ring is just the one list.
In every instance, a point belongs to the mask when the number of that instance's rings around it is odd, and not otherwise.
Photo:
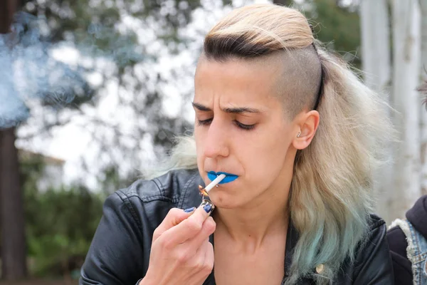
[(297, 118), (297, 126), (299, 130), (297, 130), (295, 139), (292, 141), (292, 145), (297, 150), (303, 150), (305, 147), (310, 145), (310, 142), (312, 142), (312, 139), (315, 137), (319, 121), (320, 116), (317, 110), (311, 110), (308, 113), (303, 113), (300, 118)]

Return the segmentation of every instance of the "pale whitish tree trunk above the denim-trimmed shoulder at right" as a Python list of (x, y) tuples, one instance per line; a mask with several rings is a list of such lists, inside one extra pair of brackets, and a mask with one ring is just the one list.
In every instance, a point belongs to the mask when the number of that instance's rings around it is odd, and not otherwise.
[(421, 195), (420, 100), (416, 88), (421, 63), (421, 13), (419, 0), (391, 1), (393, 23), (393, 97), (399, 112), (394, 123), (401, 137), (394, 160), (394, 199), (390, 210), (396, 217)]

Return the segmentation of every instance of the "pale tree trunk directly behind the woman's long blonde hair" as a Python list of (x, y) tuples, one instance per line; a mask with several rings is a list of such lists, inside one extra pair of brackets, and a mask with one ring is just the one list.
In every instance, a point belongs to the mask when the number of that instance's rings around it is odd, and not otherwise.
[[(377, 92), (389, 93), (391, 79), (389, 10), (386, 0), (360, 3), (360, 30), (362, 36), (362, 68), (364, 82)], [(378, 199), (376, 212), (391, 222), (393, 213), (389, 212), (393, 185), (391, 183), (392, 165), (386, 165), (374, 174), (376, 184), (374, 193)]]

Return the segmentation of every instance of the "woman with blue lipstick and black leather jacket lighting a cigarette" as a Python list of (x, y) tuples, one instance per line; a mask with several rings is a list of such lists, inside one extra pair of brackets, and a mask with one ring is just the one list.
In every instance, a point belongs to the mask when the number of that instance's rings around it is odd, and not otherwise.
[[(389, 121), (307, 19), (232, 11), (194, 83), (194, 137), (166, 174), (107, 199), (80, 284), (393, 284), (386, 225), (369, 214)], [(215, 211), (195, 209), (220, 172)]]

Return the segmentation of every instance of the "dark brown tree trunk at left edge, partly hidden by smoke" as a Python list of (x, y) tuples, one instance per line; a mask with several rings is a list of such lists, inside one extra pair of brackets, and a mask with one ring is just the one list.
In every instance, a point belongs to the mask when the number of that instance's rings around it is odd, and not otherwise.
[[(0, 33), (9, 32), (17, 5), (17, 0), (0, 1)], [(0, 130), (0, 227), (2, 277), (22, 279), (27, 273), (26, 241), (14, 128)]]

